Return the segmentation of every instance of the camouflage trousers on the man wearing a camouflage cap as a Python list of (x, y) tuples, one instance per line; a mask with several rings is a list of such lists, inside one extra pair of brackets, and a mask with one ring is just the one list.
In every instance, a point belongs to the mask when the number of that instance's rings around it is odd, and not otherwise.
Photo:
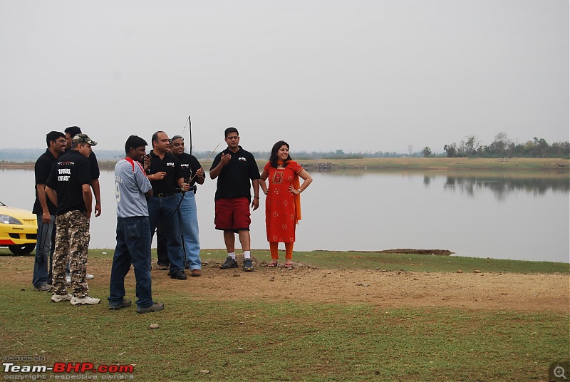
[(56, 219), (56, 250), (53, 252), (54, 294), (67, 294), (66, 265), (69, 262), (73, 296), (89, 294), (85, 280), (89, 248), (89, 219), (79, 211), (66, 212)]

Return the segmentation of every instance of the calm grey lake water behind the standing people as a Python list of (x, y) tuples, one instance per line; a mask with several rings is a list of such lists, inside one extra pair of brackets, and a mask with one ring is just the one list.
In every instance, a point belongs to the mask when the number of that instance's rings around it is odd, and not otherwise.
[[(499, 172), (312, 172), (295, 250), (449, 249), (456, 256), (570, 262), (570, 178)], [(31, 210), (32, 170), (0, 170), (0, 201)], [(103, 213), (92, 248), (115, 247), (113, 172), (100, 176)], [(202, 248), (223, 248), (214, 229), (215, 181), (197, 192)], [(252, 212), (252, 248), (269, 249), (264, 197)], [(153, 245), (154, 246), (154, 245)], [(280, 248), (283, 244), (280, 244)]]

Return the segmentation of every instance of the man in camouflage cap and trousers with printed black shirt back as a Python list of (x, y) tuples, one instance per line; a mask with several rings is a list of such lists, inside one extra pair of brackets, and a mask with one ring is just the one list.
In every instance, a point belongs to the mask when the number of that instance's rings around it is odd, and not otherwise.
[[(93, 198), (89, 155), (97, 145), (86, 134), (77, 134), (71, 150), (58, 158), (46, 182), (46, 195), (57, 206), (56, 251), (53, 253), (53, 295), (51, 301), (72, 305), (99, 304), (89, 296), (86, 267), (89, 247), (89, 219)], [(66, 289), (69, 261), (73, 294)]]

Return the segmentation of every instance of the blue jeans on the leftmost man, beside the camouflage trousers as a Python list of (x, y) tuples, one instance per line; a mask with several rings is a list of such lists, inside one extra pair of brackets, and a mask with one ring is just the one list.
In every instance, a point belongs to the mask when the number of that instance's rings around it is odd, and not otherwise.
[[(33, 287), (51, 284), (51, 259), (56, 249), (56, 215), (50, 215), (49, 223), (44, 223), (42, 215), (36, 215), (38, 234), (36, 238), (36, 259), (33, 261)], [(48, 262), (49, 261), (49, 262)]]

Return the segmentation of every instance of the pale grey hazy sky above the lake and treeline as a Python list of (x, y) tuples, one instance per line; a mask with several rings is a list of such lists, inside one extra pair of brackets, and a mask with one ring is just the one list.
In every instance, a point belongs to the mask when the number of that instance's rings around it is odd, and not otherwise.
[(230, 125), (246, 150), (569, 140), (568, 0), (2, 0), (0, 55), (0, 148), (189, 114), (200, 151)]

